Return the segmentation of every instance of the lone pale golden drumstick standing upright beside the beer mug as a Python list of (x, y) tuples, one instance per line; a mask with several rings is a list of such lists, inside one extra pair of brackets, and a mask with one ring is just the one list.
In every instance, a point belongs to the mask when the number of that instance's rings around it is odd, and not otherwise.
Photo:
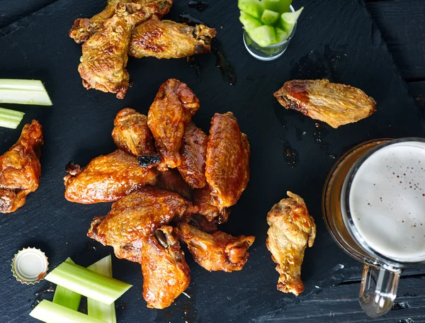
[(271, 208), (267, 215), (267, 248), (271, 259), (278, 263), (280, 274), (278, 290), (299, 295), (304, 290), (301, 281), (301, 265), (304, 251), (312, 246), (316, 237), (316, 225), (309, 215), (304, 200), (294, 193), (287, 192), (284, 198)]

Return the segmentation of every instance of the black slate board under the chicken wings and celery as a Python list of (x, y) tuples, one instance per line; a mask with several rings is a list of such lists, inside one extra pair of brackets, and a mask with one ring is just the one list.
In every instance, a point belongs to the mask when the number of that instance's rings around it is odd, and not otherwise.
[[(86, 237), (92, 217), (105, 215), (110, 205), (67, 202), (63, 197), (64, 165), (70, 160), (84, 165), (99, 154), (112, 152), (115, 113), (127, 106), (147, 113), (159, 86), (171, 77), (186, 82), (200, 98), (200, 111), (193, 118), (200, 128), (208, 131), (215, 112), (233, 111), (248, 135), (251, 181), (222, 229), (254, 234), (256, 242), (240, 272), (208, 273), (188, 255), (190, 298), (181, 295), (162, 311), (146, 308), (140, 266), (114, 258), (114, 276), (134, 285), (117, 302), (126, 305), (118, 310), (119, 322), (264, 322), (282, 312), (285, 305), (360, 271), (361, 264), (346, 256), (324, 227), (320, 208), (324, 179), (336, 158), (359, 142), (424, 135), (414, 102), (363, 2), (295, 1), (295, 7), (305, 6), (305, 11), (290, 47), (279, 60), (259, 62), (244, 49), (237, 1), (210, 1), (201, 13), (188, 8), (188, 1), (176, 1), (167, 18), (178, 21), (179, 14), (189, 13), (217, 28), (225, 55), (234, 63), (236, 85), (222, 79), (213, 55), (197, 58), (201, 65), (198, 77), (184, 59), (130, 58), (128, 69), (134, 85), (123, 101), (81, 86), (77, 72), (81, 48), (67, 37), (75, 18), (97, 13), (104, 2), (58, 0), (0, 30), (1, 77), (42, 79), (54, 103), (53, 107), (13, 106), (26, 112), (24, 123), (40, 120), (45, 146), (40, 188), (28, 196), (23, 208), (0, 217), (3, 321), (33, 322), (28, 313), (35, 292), (49, 285), (45, 281), (21, 285), (12, 277), (10, 263), (18, 249), (41, 247), (51, 268), (67, 256), (86, 266), (112, 253), (110, 247), (91, 243)], [(316, 128), (314, 120), (283, 111), (273, 98), (273, 92), (288, 79), (323, 77), (363, 89), (378, 101), (378, 111), (338, 130), (327, 125)], [(1, 129), (0, 152), (11, 147), (18, 135), (18, 130)], [(288, 149), (295, 157), (287, 156)], [(276, 290), (278, 273), (265, 245), (266, 213), (287, 190), (305, 198), (318, 229), (316, 243), (305, 254), (302, 278), (306, 290), (298, 298)]]

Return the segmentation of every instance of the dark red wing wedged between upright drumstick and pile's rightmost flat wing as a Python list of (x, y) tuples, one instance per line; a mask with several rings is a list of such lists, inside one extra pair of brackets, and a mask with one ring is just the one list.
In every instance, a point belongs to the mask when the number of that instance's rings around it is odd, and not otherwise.
[(181, 140), (181, 164), (177, 167), (181, 176), (191, 188), (203, 188), (205, 179), (205, 159), (207, 157), (208, 136), (194, 123), (189, 123)]

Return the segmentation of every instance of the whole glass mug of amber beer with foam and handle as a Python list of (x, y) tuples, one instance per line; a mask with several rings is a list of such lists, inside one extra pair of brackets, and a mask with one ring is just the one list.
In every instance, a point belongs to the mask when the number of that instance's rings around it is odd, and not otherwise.
[(425, 140), (364, 142), (350, 149), (324, 184), (331, 237), (363, 262), (359, 300), (370, 317), (388, 312), (407, 266), (425, 263)]

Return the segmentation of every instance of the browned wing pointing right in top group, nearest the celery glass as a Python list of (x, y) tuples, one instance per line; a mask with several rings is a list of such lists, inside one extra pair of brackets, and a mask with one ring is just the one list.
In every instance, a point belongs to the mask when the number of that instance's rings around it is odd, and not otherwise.
[(152, 17), (133, 29), (128, 55), (169, 59), (203, 54), (210, 52), (215, 35), (215, 29), (207, 26), (192, 27)]

